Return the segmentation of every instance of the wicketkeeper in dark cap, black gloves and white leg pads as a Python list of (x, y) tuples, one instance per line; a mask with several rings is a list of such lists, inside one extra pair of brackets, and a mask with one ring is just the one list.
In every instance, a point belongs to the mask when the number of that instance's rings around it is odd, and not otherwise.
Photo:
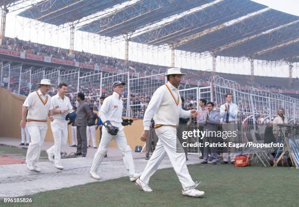
[(126, 83), (120, 81), (116, 81), (112, 84), (113, 94), (104, 100), (99, 111), (99, 116), (105, 127), (103, 127), (102, 139), (99, 148), (94, 155), (92, 166), (89, 171), (91, 177), (94, 179), (100, 179), (97, 170), (107, 154), (107, 148), (112, 139), (114, 139), (118, 148), (123, 153), (124, 163), (125, 165), (128, 165), (130, 181), (133, 182), (140, 176), (140, 174), (135, 173), (132, 150), (127, 143), (124, 132), (124, 125), (128, 125), (122, 119), (123, 101), (121, 98), (125, 84)]

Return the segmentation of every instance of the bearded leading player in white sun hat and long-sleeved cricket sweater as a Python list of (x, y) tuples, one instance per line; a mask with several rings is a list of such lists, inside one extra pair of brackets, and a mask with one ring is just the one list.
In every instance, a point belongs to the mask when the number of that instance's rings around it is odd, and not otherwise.
[(181, 98), (177, 88), (183, 75), (186, 74), (182, 74), (180, 68), (169, 68), (165, 75), (168, 76), (169, 82), (160, 86), (154, 92), (149, 102), (143, 119), (144, 132), (140, 139), (146, 141), (148, 138), (150, 120), (153, 117), (159, 141), (143, 173), (137, 179), (136, 185), (146, 192), (152, 191), (149, 187), (149, 178), (157, 170), (167, 153), (183, 187), (183, 195), (200, 197), (204, 195), (204, 192), (195, 189), (198, 183), (194, 183), (189, 174), (185, 153), (177, 153), (176, 151), (176, 127), (178, 126), (179, 118), (197, 115), (197, 110), (185, 111), (182, 109)]

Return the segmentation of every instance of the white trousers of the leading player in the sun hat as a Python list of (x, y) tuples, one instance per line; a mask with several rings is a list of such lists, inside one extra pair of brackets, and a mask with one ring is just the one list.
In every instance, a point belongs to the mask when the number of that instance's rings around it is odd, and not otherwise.
[(155, 173), (163, 158), (167, 154), (182, 186), (193, 186), (194, 182), (186, 165), (186, 155), (185, 153), (176, 152), (176, 142), (179, 142), (176, 141), (176, 128), (173, 127), (173, 129), (168, 129), (162, 134), (159, 134), (158, 138), (159, 140), (157, 146), (153, 151), (147, 166), (141, 174), (140, 180), (146, 184), (149, 184), (150, 176)]

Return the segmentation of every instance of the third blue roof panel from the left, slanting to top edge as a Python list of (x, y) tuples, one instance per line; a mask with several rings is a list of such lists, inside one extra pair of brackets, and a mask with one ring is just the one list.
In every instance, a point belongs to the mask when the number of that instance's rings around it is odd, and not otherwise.
[(222, 0), (202, 10), (163, 24), (132, 41), (146, 44), (171, 44), (190, 35), (220, 25), (227, 21), (264, 9), (266, 6), (250, 0)]

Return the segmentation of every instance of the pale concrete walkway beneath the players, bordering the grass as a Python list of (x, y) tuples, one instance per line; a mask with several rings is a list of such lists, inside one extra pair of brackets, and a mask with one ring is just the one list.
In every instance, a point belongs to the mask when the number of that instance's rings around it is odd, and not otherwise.
[[(20, 140), (11, 138), (0, 138), (0, 144), (17, 145)], [(52, 144), (45, 142), (43, 149), (47, 149)], [(67, 152), (73, 152), (74, 147), (65, 147)], [(0, 166), (0, 197), (16, 197), (35, 194), (42, 191), (60, 189), (84, 185), (86, 183), (101, 182), (128, 176), (128, 171), (123, 164), (122, 155), (115, 147), (109, 147), (108, 158), (100, 166), (98, 173), (100, 180), (92, 179), (89, 176), (89, 168), (92, 163), (96, 149), (88, 149), (87, 157), (62, 159), (64, 170), (54, 167), (53, 163), (40, 162), (41, 172), (37, 173), (26, 168), (25, 164)], [(133, 152), (136, 172), (142, 172), (147, 161), (144, 159), (145, 153)], [(196, 164), (201, 160), (197, 155), (190, 155), (187, 164)], [(166, 156), (159, 169), (171, 167), (171, 163)], [(128, 185), (133, 185), (129, 183)]]

